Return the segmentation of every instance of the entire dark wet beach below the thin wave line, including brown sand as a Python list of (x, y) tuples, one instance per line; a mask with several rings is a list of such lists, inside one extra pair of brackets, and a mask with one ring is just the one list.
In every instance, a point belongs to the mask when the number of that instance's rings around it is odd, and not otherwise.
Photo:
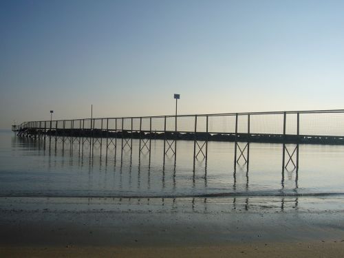
[(341, 198), (0, 197), (1, 257), (344, 257)]

